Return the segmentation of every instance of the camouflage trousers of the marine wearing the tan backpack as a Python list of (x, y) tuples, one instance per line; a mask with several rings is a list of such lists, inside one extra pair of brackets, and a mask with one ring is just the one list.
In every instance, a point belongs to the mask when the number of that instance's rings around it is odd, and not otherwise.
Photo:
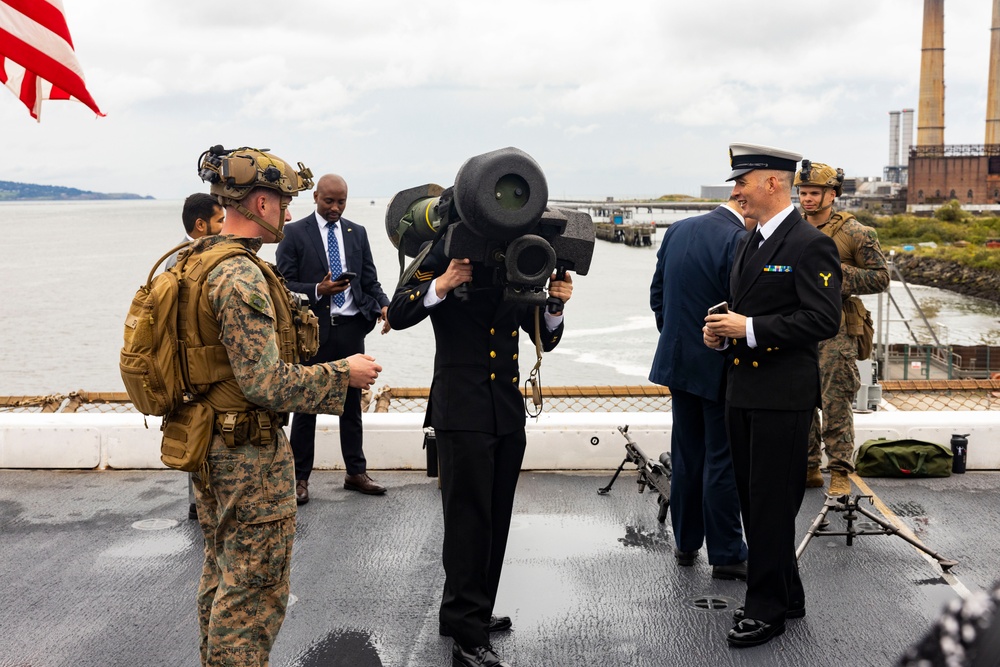
[(196, 474), (205, 565), (198, 586), (203, 667), (267, 667), (288, 604), (295, 469), (284, 431), (271, 445), (216, 434), (210, 486)]

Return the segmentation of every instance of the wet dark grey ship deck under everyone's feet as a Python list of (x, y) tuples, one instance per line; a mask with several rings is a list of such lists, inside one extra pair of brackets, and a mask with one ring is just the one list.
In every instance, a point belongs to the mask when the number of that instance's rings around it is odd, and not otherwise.
[[(436, 480), (380, 472), (389, 493), (372, 498), (344, 491), (341, 475), (314, 473), (299, 512), (293, 603), (271, 664), (450, 665), (437, 634)], [(635, 492), (634, 473), (599, 496), (608, 478), (521, 478), (497, 603), (514, 630), (494, 636), (517, 667), (891, 665), (946, 601), (1000, 576), (1000, 474), (866, 479), (895, 520), (959, 564), (942, 573), (898, 537), (816, 538), (800, 563), (806, 617), (737, 651), (724, 637), (744, 585), (713, 580), (704, 550), (677, 567), (654, 496)], [(807, 490), (800, 535), (822, 504)], [(173, 471), (0, 471), (0, 667), (198, 664), (202, 540), (186, 512)]]

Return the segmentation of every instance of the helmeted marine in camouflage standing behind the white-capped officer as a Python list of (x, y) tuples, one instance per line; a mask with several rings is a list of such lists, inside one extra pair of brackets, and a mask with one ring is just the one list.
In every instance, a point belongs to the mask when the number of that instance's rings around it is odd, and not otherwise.
[[(834, 212), (833, 200), (841, 194), (844, 172), (819, 162), (803, 161), (795, 176), (799, 200), (806, 220), (833, 238), (840, 253), (843, 281), (841, 297), (846, 302), (858, 294), (877, 294), (889, 285), (889, 269), (871, 227), (850, 213)], [(852, 403), (861, 387), (857, 367), (858, 339), (848, 332), (842, 314), (840, 331), (819, 343), (822, 419), (817, 411), (809, 437), (807, 486), (823, 486), (819, 472), (820, 448), (825, 446), (830, 467), (831, 496), (851, 492), (847, 475), (854, 470), (854, 412)]]

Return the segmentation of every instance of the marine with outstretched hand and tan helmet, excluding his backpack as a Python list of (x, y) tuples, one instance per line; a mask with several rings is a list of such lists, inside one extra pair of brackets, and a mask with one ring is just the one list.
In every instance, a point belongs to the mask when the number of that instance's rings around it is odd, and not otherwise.
[[(380, 367), (371, 357), (359, 360), (363, 355), (313, 366), (288, 361), (297, 355), (279, 347), (287, 335), (278, 329), (290, 322), (282, 322), (285, 316), (274, 303), (276, 279), (265, 275), (270, 266), (255, 255), (262, 242), (281, 237), (291, 199), (285, 195), (305, 189), (311, 181), (307, 177), (304, 187), (301, 173), (296, 179), (291, 167), (266, 153), (236, 153), (255, 160), (259, 173), (245, 177), (248, 184), (241, 198), (240, 191), (234, 194), (223, 190), (225, 184), (213, 183), (213, 194), (227, 204), (223, 234), (199, 239), (181, 260), (196, 262), (199, 255), (222, 246), (248, 251), (209, 270), (198, 317), (199, 330), (216, 335), (225, 348), (234, 376), (212, 384), (205, 394), (215, 409), (216, 426), (207, 474), (204, 469), (198, 473), (195, 484), (205, 537), (198, 616), (202, 665), (261, 667), (269, 664), (284, 620), (295, 535), (294, 460), (278, 413), (339, 414), (348, 385), (356, 384), (355, 374), (374, 382)], [(269, 163), (283, 173), (280, 179), (261, 183)], [(278, 193), (255, 187), (261, 185)], [(251, 238), (255, 233), (258, 238)]]

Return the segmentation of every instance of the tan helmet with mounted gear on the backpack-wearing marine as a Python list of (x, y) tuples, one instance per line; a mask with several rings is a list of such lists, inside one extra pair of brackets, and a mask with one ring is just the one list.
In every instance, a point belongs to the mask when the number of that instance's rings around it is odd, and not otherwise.
[(271, 188), (295, 196), (313, 186), (312, 171), (299, 162), (292, 165), (271, 155), (268, 149), (243, 146), (234, 150), (212, 146), (198, 159), (198, 175), (211, 183), (211, 192), (220, 201), (240, 201), (256, 187)]

